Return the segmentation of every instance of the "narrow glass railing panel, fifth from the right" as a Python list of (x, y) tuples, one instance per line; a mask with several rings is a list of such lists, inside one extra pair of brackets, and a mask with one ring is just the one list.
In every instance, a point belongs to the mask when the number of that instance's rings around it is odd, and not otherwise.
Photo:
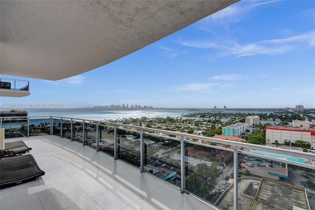
[(100, 130), (100, 151), (103, 151), (109, 155), (114, 156), (114, 128), (108, 126), (99, 126)]

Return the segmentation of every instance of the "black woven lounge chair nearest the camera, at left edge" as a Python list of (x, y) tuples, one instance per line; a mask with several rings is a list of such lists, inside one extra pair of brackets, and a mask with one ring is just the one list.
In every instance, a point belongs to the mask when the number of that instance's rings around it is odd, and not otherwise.
[(0, 188), (25, 183), (44, 174), (31, 154), (0, 159)]

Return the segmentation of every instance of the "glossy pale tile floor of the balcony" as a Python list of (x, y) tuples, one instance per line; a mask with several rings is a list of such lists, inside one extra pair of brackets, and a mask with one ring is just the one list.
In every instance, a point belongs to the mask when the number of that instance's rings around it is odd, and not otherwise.
[(57, 136), (23, 140), (45, 175), (0, 190), (0, 210), (215, 210), (89, 146)]

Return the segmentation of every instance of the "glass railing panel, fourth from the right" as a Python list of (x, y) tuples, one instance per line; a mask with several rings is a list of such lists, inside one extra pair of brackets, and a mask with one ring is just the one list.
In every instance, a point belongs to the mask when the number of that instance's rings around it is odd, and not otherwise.
[(140, 134), (124, 129), (117, 129), (119, 159), (140, 167)]

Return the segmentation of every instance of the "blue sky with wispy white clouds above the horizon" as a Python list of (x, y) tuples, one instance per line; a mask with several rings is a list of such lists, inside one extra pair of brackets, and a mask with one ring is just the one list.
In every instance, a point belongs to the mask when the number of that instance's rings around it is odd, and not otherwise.
[(315, 1), (237, 2), (115, 62), (1, 103), (315, 108)]

